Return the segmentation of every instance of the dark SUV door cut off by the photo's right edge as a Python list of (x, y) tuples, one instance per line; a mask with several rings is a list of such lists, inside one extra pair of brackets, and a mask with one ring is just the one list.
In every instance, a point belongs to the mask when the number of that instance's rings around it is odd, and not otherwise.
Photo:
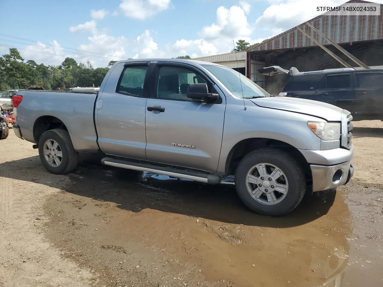
[(383, 119), (383, 72), (355, 72), (355, 119)]

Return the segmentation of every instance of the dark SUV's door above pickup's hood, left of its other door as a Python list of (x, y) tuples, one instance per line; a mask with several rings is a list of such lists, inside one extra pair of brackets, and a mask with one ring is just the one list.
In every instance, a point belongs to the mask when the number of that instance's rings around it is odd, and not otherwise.
[(316, 100), (354, 113), (355, 93), (351, 75), (352, 73), (327, 74), (316, 91)]

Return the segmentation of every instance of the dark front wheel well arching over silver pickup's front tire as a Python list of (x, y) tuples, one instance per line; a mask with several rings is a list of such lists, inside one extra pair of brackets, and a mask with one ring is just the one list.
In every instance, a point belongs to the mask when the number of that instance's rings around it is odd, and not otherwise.
[(229, 156), (226, 160), (226, 174), (235, 174), (237, 165), (242, 160), (242, 158), (247, 155), (249, 152), (256, 150), (258, 148), (264, 147), (273, 147), (284, 150), (293, 156), (298, 163), (302, 166), (306, 179), (311, 179), (311, 170), (310, 165), (307, 163), (306, 159), (300, 153), (298, 149), (293, 147), (292, 145), (282, 142), (280, 140), (273, 139), (264, 139), (264, 138), (253, 138), (253, 139), (245, 139), (241, 142), (237, 143), (230, 151)]

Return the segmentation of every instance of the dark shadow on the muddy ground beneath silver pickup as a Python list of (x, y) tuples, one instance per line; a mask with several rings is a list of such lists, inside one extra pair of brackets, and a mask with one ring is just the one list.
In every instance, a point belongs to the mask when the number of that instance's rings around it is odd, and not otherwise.
[(70, 183), (64, 188), (60, 183), (63, 176), (46, 171), (38, 156), (1, 163), (0, 175), (54, 188), (60, 186), (65, 192), (113, 202), (118, 208), (132, 212), (156, 209), (225, 223), (273, 228), (299, 226), (318, 219), (327, 214), (336, 196), (334, 191), (308, 193), (290, 214), (268, 217), (247, 209), (234, 185), (210, 185), (113, 168), (101, 165), (99, 155), (89, 154), (81, 155), (78, 168), (68, 175)]

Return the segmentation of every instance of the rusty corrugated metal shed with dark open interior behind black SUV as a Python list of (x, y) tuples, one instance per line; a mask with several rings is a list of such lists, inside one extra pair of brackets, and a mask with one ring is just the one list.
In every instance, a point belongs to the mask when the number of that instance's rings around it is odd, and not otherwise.
[[(346, 3), (373, 2), (351, 0)], [(380, 5), (380, 14), (380, 16), (358, 16), (324, 13), (308, 20), (307, 23), (313, 25), (368, 66), (377, 66), (383, 65), (383, 5)], [(299, 28), (345, 62), (355, 66), (329, 41), (302, 23), (251, 47), (247, 51), (247, 70), (251, 71), (247, 77), (264, 86), (268, 92), (279, 93), (283, 88), (285, 78), (283, 76), (262, 77), (256, 72), (259, 68), (279, 65), (285, 69), (296, 67), (303, 72), (341, 67), (339, 62), (299, 31)]]

